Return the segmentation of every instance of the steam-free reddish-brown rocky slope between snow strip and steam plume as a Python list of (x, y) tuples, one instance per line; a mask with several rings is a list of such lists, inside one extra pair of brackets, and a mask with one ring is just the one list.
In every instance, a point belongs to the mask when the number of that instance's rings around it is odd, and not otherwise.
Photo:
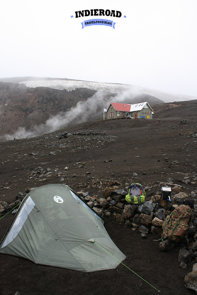
[(19, 127), (29, 130), (34, 125), (44, 124), (50, 117), (69, 111), (78, 101), (86, 101), (95, 92), (90, 89), (27, 88), (0, 82), (0, 135), (14, 133)]

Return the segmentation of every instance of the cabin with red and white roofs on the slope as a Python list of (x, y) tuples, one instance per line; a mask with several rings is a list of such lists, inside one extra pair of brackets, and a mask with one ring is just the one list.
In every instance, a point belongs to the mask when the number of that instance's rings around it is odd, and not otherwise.
[(137, 104), (122, 104), (111, 102), (107, 109), (107, 119), (132, 117), (152, 119), (153, 109), (148, 102)]

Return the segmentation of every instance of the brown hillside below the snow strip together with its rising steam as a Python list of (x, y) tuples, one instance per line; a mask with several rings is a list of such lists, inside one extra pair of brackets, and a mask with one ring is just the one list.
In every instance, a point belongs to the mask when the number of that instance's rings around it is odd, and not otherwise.
[[(68, 91), (0, 82), (1, 140), (38, 136), (78, 122), (98, 119), (103, 116), (104, 106), (121, 99), (104, 90), (77, 88)], [(143, 100), (151, 105), (163, 102), (148, 94), (127, 95), (125, 99), (127, 103)]]

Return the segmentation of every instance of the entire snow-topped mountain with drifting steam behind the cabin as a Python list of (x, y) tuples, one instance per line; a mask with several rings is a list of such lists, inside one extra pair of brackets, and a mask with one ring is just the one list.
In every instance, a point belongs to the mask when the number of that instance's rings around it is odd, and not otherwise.
[(147, 101), (155, 106), (193, 99), (196, 98), (125, 84), (67, 78), (1, 78), (0, 136), (1, 140), (35, 137), (80, 122), (103, 119), (103, 108), (108, 108), (112, 101), (127, 104)]

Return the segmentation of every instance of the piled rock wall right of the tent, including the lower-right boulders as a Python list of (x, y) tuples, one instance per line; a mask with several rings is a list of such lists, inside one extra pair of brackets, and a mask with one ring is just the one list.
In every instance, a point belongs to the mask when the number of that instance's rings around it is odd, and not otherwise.
[[(147, 190), (148, 188), (146, 188)], [(175, 192), (180, 191), (180, 186), (174, 185)], [(131, 230), (141, 232), (141, 238), (146, 238), (151, 232), (153, 235), (161, 235), (162, 224), (173, 209), (175, 209), (181, 201), (185, 201), (189, 196), (183, 192), (174, 194), (171, 202), (163, 200), (161, 194), (152, 196), (151, 200), (144, 202), (138, 206), (136, 204), (128, 204), (125, 200), (127, 194), (126, 189), (121, 190), (118, 186), (106, 188), (103, 191), (103, 198), (97, 199), (97, 196), (90, 197), (89, 193), (78, 194), (92, 207), (95, 212), (103, 216), (113, 216), (120, 224), (131, 227)], [(192, 194), (193, 195), (193, 192)], [(194, 195), (196, 195), (194, 193)], [(178, 261), (181, 268), (186, 268), (186, 263), (194, 259), (197, 262), (197, 200), (195, 200), (194, 209), (192, 210), (192, 222), (187, 231), (188, 237), (193, 240), (186, 249), (180, 249)], [(169, 251), (175, 246), (170, 240), (164, 240), (159, 243), (159, 249)], [(192, 272), (188, 273), (184, 278), (185, 287), (196, 291), (197, 294), (197, 263), (193, 265)]]

